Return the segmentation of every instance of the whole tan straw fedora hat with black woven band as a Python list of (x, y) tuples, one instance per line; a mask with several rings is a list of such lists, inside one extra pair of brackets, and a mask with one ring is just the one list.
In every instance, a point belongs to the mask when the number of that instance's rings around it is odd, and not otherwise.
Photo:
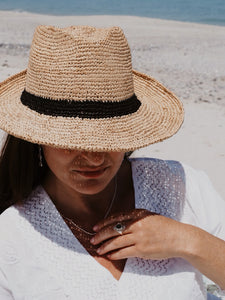
[(28, 68), (0, 84), (0, 128), (32, 143), (130, 151), (182, 122), (177, 97), (132, 70), (119, 27), (38, 26)]

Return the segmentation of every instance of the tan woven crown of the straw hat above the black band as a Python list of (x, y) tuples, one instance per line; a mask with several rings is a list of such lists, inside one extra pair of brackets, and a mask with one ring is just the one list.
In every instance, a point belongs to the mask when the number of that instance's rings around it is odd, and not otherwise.
[(25, 89), (52, 100), (130, 98), (134, 94), (131, 54), (122, 29), (38, 26)]

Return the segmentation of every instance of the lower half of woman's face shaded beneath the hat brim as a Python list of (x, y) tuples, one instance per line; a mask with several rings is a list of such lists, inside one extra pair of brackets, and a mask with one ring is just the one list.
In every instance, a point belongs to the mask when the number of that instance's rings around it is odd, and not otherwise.
[(42, 149), (50, 179), (85, 195), (103, 191), (124, 158), (124, 152), (87, 152), (50, 146), (42, 146)]

